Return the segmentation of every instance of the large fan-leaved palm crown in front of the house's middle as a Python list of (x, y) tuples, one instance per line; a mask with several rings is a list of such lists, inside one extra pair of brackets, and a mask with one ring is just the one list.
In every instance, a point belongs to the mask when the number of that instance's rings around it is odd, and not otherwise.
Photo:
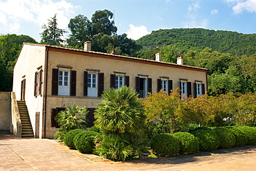
[(95, 110), (94, 125), (115, 133), (140, 134), (145, 128), (143, 104), (138, 93), (127, 86), (109, 89), (102, 94)]

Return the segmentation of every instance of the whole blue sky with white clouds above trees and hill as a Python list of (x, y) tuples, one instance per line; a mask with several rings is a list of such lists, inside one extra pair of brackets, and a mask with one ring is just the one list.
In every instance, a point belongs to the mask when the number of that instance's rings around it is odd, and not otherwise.
[(55, 14), (58, 28), (69, 31), (69, 20), (78, 14), (91, 20), (106, 9), (114, 13), (117, 33), (135, 40), (172, 28), (256, 33), (256, 0), (0, 0), (0, 34), (41, 41), (42, 26)]

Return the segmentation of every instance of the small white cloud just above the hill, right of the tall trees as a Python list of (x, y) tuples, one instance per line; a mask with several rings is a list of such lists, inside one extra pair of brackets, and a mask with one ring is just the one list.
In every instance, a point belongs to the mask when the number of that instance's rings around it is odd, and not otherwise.
[(147, 34), (149, 34), (150, 32), (147, 31), (147, 27), (145, 26), (134, 26), (132, 24), (129, 25), (129, 30), (127, 31), (127, 37), (130, 39), (140, 39), (140, 37), (143, 37)]

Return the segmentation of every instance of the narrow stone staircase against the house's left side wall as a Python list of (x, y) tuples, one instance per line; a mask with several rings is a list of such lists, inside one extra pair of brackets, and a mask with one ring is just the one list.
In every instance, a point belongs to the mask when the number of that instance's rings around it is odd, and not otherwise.
[(28, 114), (28, 108), (25, 101), (17, 101), (19, 108), (19, 116), (21, 117), (21, 137), (34, 137), (33, 128)]

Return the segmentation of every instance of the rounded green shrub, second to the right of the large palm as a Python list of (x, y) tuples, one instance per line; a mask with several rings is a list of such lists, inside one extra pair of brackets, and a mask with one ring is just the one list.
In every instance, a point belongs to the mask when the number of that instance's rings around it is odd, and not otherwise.
[(199, 142), (193, 134), (188, 132), (176, 132), (173, 134), (179, 140), (180, 154), (194, 153), (199, 150)]

